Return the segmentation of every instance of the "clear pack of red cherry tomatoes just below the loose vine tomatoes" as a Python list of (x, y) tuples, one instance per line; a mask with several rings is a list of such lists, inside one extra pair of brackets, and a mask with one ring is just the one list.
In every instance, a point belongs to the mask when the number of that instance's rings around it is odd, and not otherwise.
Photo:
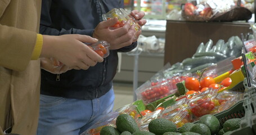
[(199, 118), (205, 114), (213, 114), (217, 111), (217, 104), (214, 102), (217, 96), (217, 91), (214, 89), (208, 89), (199, 95), (195, 95), (190, 101), (191, 113)]

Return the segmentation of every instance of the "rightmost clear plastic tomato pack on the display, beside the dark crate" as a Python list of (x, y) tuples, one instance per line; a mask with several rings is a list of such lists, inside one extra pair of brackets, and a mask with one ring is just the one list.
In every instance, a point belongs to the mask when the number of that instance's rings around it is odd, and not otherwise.
[(218, 94), (216, 100), (219, 104), (218, 113), (230, 109), (237, 102), (244, 100), (244, 93), (235, 91), (223, 91)]

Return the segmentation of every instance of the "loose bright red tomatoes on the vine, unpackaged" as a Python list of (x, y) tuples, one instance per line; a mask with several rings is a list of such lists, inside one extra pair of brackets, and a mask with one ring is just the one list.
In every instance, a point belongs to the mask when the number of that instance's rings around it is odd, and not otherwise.
[(216, 83), (212, 77), (203, 77), (202, 73), (199, 73), (199, 79), (194, 77), (188, 77), (185, 80), (185, 87), (188, 89), (186, 95), (192, 95), (201, 93), (209, 88), (217, 89), (221, 91), (232, 83), (231, 78), (225, 78), (221, 83)]

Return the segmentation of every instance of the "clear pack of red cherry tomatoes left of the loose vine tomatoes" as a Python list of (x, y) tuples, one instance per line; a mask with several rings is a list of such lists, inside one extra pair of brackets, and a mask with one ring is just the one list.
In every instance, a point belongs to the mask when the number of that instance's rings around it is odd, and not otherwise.
[(140, 89), (136, 95), (138, 99), (142, 99), (145, 104), (150, 104), (156, 100), (172, 95), (177, 92), (177, 88), (173, 88), (168, 82), (160, 83), (146, 89)]

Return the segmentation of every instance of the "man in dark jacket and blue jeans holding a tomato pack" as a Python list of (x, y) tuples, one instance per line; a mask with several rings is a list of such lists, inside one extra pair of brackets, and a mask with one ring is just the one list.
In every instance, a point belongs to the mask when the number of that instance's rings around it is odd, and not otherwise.
[[(128, 52), (137, 46), (136, 31), (130, 22), (111, 30), (110, 26), (118, 19), (102, 20), (102, 14), (114, 7), (122, 8), (123, 1), (43, 1), (42, 34), (90, 35), (109, 42), (110, 55), (88, 70), (69, 70), (62, 74), (52, 74), (55, 72), (51, 68), (44, 68), (51, 73), (42, 70), (38, 135), (80, 134), (113, 109), (112, 80), (118, 64), (117, 52)], [(141, 25), (146, 23), (142, 19), (145, 13), (133, 11), (132, 15)]]

